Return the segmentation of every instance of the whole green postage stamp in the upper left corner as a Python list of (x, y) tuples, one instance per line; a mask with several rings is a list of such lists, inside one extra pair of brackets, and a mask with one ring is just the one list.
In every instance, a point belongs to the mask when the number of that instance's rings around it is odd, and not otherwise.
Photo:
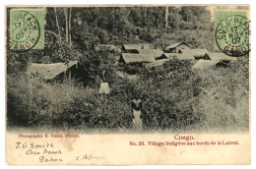
[(12, 9), (10, 13), (10, 49), (26, 51), (44, 47), (43, 9)]

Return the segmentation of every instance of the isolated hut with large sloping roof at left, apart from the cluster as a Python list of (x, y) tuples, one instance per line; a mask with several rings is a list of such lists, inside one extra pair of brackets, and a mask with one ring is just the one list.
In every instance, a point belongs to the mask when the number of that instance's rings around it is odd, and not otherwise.
[(62, 80), (68, 76), (69, 80), (74, 77), (78, 69), (78, 61), (71, 61), (68, 64), (37, 64), (32, 63), (27, 73), (32, 76), (39, 76), (45, 81)]

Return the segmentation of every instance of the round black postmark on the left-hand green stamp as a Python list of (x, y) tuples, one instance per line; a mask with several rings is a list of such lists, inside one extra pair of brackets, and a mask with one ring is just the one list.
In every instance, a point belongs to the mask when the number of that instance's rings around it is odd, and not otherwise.
[(11, 16), (11, 49), (28, 51), (37, 43), (40, 26), (36, 18), (27, 11), (17, 11)]

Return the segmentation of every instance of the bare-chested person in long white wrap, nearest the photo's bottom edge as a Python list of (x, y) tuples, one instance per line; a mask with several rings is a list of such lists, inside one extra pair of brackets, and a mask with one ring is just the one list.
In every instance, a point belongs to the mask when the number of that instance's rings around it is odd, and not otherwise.
[(132, 113), (133, 113), (133, 121), (132, 127), (135, 130), (142, 129), (142, 100), (139, 98), (139, 94), (135, 94), (135, 98), (132, 100)]

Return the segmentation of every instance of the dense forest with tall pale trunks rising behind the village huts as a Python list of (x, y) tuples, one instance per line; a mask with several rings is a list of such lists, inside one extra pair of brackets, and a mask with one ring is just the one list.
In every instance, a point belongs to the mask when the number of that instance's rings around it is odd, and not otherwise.
[[(8, 14), (10, 8), (8, 9)], [(167, 13), (167, 14), (166, 14)], [(167, 16), (167, 24), (166, 17)], [(7, 22), (8, 23), (8, 22)], [(165, 25), (166, 24), (166, 25)], [(47, 7), (44, 49), (23, 53), (7, 52), (8, 73), (26, 71), (26, 62), (80, 60), (97, 65), (97, 44), (153, 43), (164, 48), (184, 41), (192, 48), (212, 50), (213, 23), (204, 6), (183, 7)], [(102, 52), (107, 55), (106, 52)], [(104, 57), (104, 56), (103, 56)]]

